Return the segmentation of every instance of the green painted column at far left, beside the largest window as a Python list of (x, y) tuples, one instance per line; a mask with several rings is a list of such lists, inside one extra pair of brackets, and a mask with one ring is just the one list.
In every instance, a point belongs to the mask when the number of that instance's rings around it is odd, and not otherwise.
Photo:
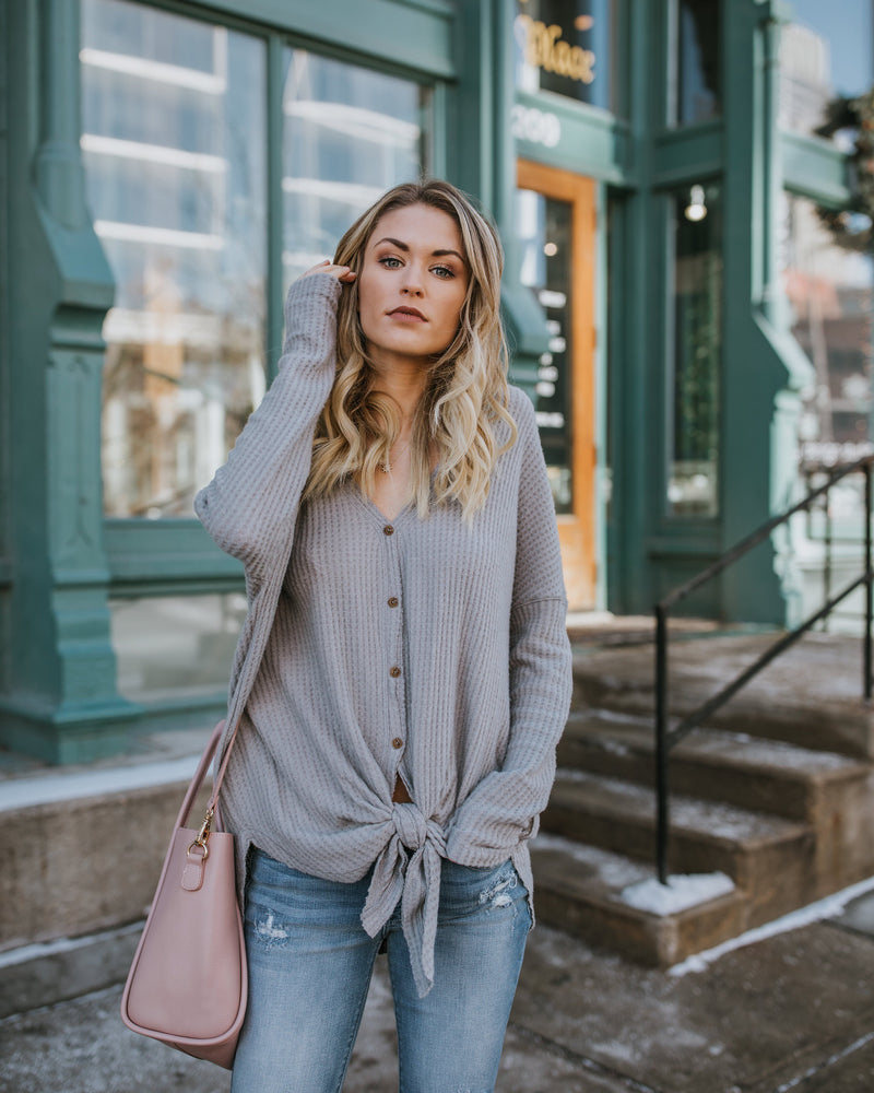
[(78, 0), (8, 5), (10, 540), (0, 743), (55, 763), (121, 750), (101, 496), (101, 328), (113, 279), (80, 155)]

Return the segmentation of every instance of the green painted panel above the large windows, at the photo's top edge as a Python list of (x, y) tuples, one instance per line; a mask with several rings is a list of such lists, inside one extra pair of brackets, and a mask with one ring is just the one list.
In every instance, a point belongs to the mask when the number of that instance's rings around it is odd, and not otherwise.
[(306, 36), (343, 51), (354, 48), (356, 54), (428, 75), (451, 78), (456, 73), (456, 5), (449, 0), (211, 0), (201, 8)]

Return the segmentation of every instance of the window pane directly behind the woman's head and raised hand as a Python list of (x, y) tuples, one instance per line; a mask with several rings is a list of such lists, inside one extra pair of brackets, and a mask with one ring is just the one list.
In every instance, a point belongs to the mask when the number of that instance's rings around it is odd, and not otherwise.
[(385, 190), (425, 171), (428, 96), (410, 80), (285, 52), (283, 268), (286, 286), (333, 254)]

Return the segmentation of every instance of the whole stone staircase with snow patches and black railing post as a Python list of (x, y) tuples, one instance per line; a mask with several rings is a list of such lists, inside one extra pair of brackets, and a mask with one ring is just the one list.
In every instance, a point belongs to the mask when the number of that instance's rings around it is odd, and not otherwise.
[[(772, 640), (672, 640), (672, 717)], [(874, 873), (874, 716), (858, 638), (803, 638), (674, 750), (670, 868), (682, 875), (669, 893), (653, 863), (652, 644), (616, 642), (575, 646), (572, 710), (533, 844), (542, 921), (669, 966)]]

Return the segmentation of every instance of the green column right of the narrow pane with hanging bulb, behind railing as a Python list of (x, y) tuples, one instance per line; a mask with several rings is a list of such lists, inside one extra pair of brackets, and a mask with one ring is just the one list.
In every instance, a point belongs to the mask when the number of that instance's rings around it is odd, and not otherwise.
[[(789, 507), (796, 473), (799, 391), (808, 366), (789, 336), (775, 245), (779, 230), (778, 4), (743, 0), (724, 19), (725, 247), (722, 549)], [(782, 540), (722, 577), (725, 618), (794, 614), (799, 578)]]

